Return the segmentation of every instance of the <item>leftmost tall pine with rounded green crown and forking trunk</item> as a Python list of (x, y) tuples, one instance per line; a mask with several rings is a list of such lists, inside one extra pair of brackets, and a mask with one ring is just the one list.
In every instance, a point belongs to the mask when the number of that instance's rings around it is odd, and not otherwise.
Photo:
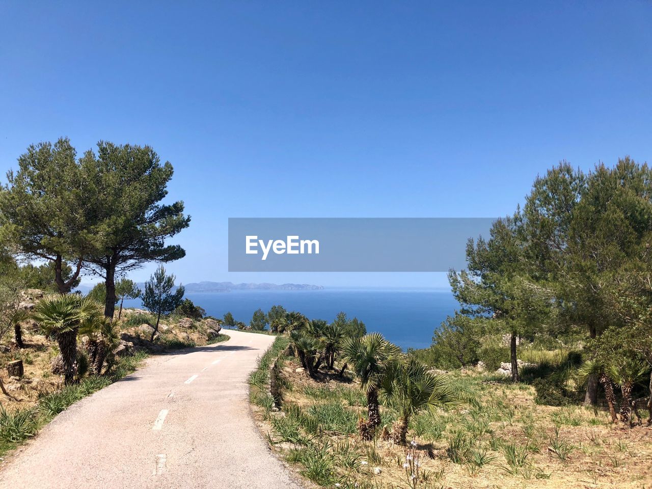
[[(97, 237), (97, 187), (87, 179), (89, 168), (77, 160), (70, 140), (39, 143), (18, 157), (18, 170), (7, 173), (0, 192), (3, 238), (28, 259), (46, 259), (57, 290), (68, 292), (78, 283), (85, 256)], [(71, 274), (68, 260), (75, 264)], [(37, 282), (46, 269), (27, 269)], [(46, 273), (47, 274), (47, 273)], [(49, 284), (49, 280), (44, 280)]]

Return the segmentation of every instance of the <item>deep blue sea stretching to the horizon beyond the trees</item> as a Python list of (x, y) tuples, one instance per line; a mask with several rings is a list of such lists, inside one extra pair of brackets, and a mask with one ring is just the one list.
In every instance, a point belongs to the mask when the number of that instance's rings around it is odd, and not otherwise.
[[(344, 311), (348, 318), (363, 321), (368, 332), (378, 331), (402, 348), (430, 346), (434, 330), (459, 308), (450, 291), (437, 289), (233, 290), (186, 293), (186, 297), (210, 316), (221, 318), (230, 311), (244, 323), (256, 309), (267, 312), (274, 304), (327, 321)], [(129, 302), (130, 307), (140, 307), (140, 301)]]

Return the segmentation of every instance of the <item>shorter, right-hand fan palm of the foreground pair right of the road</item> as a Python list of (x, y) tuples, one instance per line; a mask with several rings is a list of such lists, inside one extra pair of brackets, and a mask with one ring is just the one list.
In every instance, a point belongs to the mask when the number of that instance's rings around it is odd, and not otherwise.
[(395, 443), (405, 443), (409, 419), (424, 409), (457, 404), (449, 380), (435, 376), (421, 362), (398, 359), (389, 364), (380, 386), (381, 400), (394, 406), (398, 419), (392, 429)]

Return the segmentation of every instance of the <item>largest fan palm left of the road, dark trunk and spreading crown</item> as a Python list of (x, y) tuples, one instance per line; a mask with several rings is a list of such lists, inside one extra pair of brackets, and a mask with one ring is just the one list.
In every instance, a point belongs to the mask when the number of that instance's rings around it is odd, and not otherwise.
[(77, 360), (77, 333), (80, 325), (95, 314), (96, 305), (79, 295), (53, 295), (41, 299), (34, 308), (33, 318), (41, 329), (54, 336), (63, 361), (65, 383), (72, 383)]

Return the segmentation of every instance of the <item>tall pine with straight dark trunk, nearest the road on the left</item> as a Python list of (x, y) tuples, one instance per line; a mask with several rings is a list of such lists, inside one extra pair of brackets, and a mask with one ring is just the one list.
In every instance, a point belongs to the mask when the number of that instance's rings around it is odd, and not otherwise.
[(165, 240), (187, 228), (190, 218), (183, 202), (161, 203), (173, 170), (151, 147), (100, 141), (97, 153), (87, 151), (80, 162), (88, 169), (85, 186), (96, 193), (89, 228), (94, 239), (85, 262), (106, 280), (105, 314), (112, 317), (115, 276), (147, 261), (183, 258), (183, 248)]

